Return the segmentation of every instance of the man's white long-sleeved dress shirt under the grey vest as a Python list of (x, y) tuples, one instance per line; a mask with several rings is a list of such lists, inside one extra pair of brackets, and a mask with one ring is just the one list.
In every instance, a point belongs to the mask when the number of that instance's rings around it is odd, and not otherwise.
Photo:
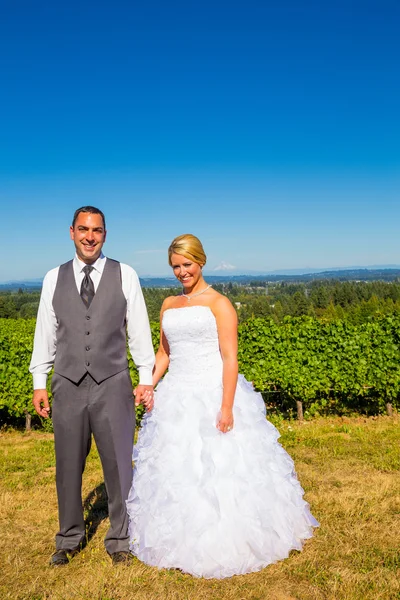
[[(90, 277), (96, 291), (103, 274), (106, 257), (101, 254), (93, 263)], [(76, 255), (73, 260), (76, 287), (80, 293), (86, 266)], [(126, 322), (129, 350), (139, 371), (139, 383), (152, 384), (154, 350), (147, 309), (136, 271), (129, 265), (120, 263), (122, 292), (126, 298)], [(33, 388), (45, 389), (47, 375), (51, 371), (56, 355), (57, 318), (53, 308), (53, 296), (56, 289), (59, 267), (49, 271), (44, 280), (40, 296), (36, 321), (35, 339), (29, 371), (33, 375)]]

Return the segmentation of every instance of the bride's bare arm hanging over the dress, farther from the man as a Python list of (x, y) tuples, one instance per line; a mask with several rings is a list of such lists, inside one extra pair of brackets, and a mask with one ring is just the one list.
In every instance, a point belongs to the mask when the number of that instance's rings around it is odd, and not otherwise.
[(212, 309), (217, 321), (218, 341), (223, 364), (221, 417), (217, 427), (226, 433), (233, 427), (233, 402), (238, 377), (237, 315), (231, 302), (225, 296), (220, 296)]

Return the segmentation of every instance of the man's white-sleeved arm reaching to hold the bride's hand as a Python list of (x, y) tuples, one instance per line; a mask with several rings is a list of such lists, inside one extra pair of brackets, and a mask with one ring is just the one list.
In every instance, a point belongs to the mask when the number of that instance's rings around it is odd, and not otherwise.
[(152, 395), (154, 349), (151, 339), (149, 317), (136, 272), (121, 264), (122, 289), (127, 301), (128, 345), (133, 361), (139, 371), (136, 403)]

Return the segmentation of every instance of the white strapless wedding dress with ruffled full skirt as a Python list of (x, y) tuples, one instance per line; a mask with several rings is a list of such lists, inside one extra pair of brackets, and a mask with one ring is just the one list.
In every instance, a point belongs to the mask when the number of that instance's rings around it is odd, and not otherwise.
[(261, 395), (241, 375), (234, 428), (216, 428), (222, 360), (210, 308), (166, 310), (163, 331), (169, 371), (133, 452), (132, 552), (148, 565), (220, 579), (300, 550), (318, 522)]

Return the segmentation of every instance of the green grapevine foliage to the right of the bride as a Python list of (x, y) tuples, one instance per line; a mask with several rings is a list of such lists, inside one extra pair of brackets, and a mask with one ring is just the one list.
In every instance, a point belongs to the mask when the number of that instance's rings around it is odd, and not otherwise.
[(239, 370), (259, 390), (280, 392), (307, 416), (384, 412), (399, 405), (400, 319), (359, 326), (312, 317), (253, 319), (239, 327)]

